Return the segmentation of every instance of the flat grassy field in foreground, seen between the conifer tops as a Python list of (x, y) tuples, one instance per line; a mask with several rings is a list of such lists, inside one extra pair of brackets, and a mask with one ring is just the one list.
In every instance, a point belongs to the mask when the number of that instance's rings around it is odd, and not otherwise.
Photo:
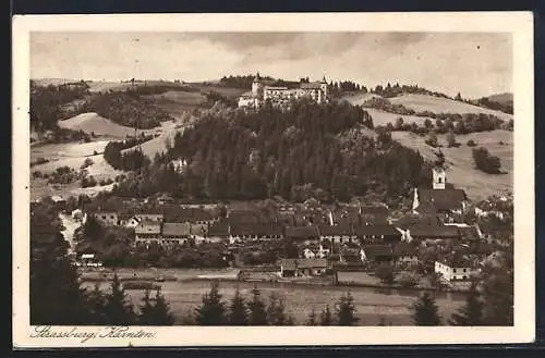
[[(84, 283), (85, 287), (93, 287), (92, 283)], [(170, 307), (178, 321), (189, 311), (201, 304), (202, 297), (209, 291), (206, 281), (192, 282), (161, 282), (161, 292), (168, 299)], [(298, 324), (304, 323), (307, 316), (314, 309), (318, 314), (322, 309), (329, 305), (335, 309), (338, 299), (348, 292), (346, 287), (313, 287), (293, 286), (281, 283), (235, 283), (221, 282), (220, 293), (223, 300), (228, 301), (234, 294), (237, 285), (245, 297), (251, 297), (251, 291), (256, 285), (265, 299), (276, 292), (286, 299), (287, 311), (294, 316)], [(100, 287), (108, 289), (108, 283), (101, 283)], [(388, 291), (366, 287), (351, 287), (350, 292), (356, 304), (358, 317), (362, 325), (376, 325), (382, 316), (393, 325), (411, 325), (411, 305), (417, 299), (415, 291)], [(143, 291), (128, 291), (131, 301), (138, 306), (144, 297)], [(437, 294), (437, 305), (444, 317), (449, 317), (456, 309), (463, 305), (464, 298), (457, 294)]]

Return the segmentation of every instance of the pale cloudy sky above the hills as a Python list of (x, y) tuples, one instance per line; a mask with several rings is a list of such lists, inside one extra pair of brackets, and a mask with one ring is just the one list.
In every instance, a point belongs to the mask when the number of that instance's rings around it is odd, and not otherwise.
[(31, 77), (276, 78), (419, 85), (476, 98), (512, 92), (509, 34), (33, 33)]

